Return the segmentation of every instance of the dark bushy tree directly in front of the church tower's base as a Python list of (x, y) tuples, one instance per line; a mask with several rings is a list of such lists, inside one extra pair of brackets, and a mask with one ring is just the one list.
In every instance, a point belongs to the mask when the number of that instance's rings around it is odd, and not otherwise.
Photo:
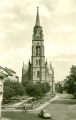
[(35, 83), (29, 82), (26, 88), (26, 93), (32, 97), (38, 99), (38, 97), (42, 97), (44, 94), (50, 91), (50, 86), (48, 83)]

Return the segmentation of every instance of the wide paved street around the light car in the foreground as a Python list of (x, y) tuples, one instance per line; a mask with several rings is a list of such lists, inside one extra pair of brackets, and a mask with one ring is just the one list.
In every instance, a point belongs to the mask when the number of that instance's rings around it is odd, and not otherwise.
[[(43, 109), (47, 109), (51, 115), (52, 120), (76, 120), (76, 100), (70, 99), (68, 95), (59, 95), (57, 100), (51, 102)], [(38, 112), (2, 112), (2, 117), (10, 120), (42, 120), (38, 117)]]

